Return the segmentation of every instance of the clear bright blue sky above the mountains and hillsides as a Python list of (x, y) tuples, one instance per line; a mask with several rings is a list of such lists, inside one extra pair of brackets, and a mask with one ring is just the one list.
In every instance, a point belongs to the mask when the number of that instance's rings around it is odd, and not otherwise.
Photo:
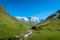
[(35, 16), (45, 19), (60, 9), (60, 0), (0, 0), (12, 16)]

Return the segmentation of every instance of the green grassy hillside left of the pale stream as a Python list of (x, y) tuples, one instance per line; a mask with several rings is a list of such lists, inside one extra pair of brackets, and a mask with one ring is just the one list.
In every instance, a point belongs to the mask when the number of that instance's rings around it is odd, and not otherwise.
[(0, 39), (7, 40), (13, 38), (27, 30), (27, 26), (16, 18), (9, 15), (5, 9), (0, 6)]

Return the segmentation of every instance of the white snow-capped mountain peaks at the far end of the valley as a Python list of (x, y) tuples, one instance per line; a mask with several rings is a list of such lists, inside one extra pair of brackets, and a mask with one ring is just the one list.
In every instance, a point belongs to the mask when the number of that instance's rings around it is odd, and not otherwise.
[(20, 16), (17, 16), (16, 17), (18, 20), (23, 20), (23, 21), (26, 21), (26, 22), (35, 22), (35, 23), (39, 23), (40, 22), (40, 19), (37, 18), (37, 17), (20, 17)]

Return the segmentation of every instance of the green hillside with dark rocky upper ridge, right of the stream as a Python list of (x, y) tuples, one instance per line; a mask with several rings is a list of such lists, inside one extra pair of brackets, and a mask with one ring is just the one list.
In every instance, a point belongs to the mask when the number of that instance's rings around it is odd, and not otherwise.
[(60, 40), (60, 10), (36, 25), (28, 40)]

